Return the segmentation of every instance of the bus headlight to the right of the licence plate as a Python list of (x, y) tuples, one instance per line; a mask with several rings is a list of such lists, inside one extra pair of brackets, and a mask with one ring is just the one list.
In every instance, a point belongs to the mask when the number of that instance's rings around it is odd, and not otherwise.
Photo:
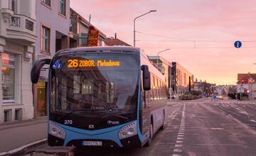
[(132, 135), (137, 135), (137, 122), (134, 121), (127, 126), (124, 126), (121, 130), (119, 130), (118, 136), (119, 139), (122, 140), (124, 138), (129, 138)]

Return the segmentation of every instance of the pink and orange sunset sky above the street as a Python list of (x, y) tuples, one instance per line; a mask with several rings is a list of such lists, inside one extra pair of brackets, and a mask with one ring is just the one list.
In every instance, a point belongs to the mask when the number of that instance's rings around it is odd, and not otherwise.
[[(235, 84), (238, 73), (256, 73), (256, 1), (236, 0), (70, 0), (71, 7), (108, 37), (133, 45), (148, 55), (176, 61), (196, 78)], [(242, 40), (242, 48), (234, 48)]]

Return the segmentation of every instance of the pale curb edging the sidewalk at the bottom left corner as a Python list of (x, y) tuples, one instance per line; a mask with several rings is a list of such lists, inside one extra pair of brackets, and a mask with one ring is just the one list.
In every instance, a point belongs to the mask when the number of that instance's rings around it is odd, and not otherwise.
[(21, 147), (17, 147), (14, 150), (10, 150), (9, 152), (0, 152), (0, 156), (16, 156), (16, 155), (22, 155), (23, 152), (28, 150), (29, 148), (36, 147), (38, 145), (43, 145), (44, 143), (47, 143), (47, 138), (44, 138), (42, 140), (38, 140), (33, 143), (29, 143), (27, 145), (23, 145)]

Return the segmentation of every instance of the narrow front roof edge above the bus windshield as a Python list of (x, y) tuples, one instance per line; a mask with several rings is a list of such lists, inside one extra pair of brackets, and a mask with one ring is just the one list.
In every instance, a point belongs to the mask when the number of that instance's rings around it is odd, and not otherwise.
[(64, 53), (68, 53), (68, 52), (102, 51), (102, 50), (139, 52), (140, 48), (134, 48), (134, 47), (129, 47), (129, 46), (80, 47), (80, 48), (70, 48), (70, 49), (60, 50), (56, 54), (64, 54)]

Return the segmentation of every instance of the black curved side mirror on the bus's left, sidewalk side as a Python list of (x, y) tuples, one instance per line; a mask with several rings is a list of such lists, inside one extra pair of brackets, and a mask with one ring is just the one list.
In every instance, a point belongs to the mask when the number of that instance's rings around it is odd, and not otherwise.
[(38, 82), (40, 71), (43, 65), (50, 65), (50, 59), (41, 59), (35, 62), (31, 69), (31, 82), (36, 84)]

